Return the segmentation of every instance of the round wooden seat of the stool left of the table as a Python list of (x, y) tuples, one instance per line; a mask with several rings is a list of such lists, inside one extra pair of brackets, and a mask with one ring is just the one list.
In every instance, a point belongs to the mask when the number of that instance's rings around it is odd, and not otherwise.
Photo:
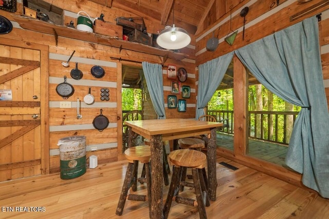
[(131, 147), (124, 151), (124, 155), (129, 163), (134, 163), (134, 161), (149, 163), (151, 160), (151, 147), (147, 145)]

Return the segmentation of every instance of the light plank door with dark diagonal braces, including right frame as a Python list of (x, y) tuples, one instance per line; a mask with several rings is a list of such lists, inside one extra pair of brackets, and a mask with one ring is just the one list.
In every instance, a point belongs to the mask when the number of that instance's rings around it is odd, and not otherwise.
[(46, 174), (48, 47), (0, 38), (0, 51), (0, 182)]

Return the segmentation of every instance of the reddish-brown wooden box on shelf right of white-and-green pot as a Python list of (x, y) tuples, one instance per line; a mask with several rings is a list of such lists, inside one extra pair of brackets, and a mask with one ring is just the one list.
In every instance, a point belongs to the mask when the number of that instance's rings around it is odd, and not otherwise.
[(96, 19), (94, 29), (95, 33), (122, 39), (122, 26)]

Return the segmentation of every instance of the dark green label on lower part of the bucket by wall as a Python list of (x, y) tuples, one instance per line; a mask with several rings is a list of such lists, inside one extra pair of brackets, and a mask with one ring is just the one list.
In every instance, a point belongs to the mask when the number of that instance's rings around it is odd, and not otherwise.
[(67, 180), (76, 178), (86, 172), (86, 156), (71, 161), (61, 161), (61, 178)]

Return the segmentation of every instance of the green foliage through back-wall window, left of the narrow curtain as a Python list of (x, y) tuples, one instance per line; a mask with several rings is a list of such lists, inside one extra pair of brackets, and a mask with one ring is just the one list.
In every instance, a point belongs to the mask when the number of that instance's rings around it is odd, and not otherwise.
[(141, 89), (122, 88), (122, 110), (141, 110)]

